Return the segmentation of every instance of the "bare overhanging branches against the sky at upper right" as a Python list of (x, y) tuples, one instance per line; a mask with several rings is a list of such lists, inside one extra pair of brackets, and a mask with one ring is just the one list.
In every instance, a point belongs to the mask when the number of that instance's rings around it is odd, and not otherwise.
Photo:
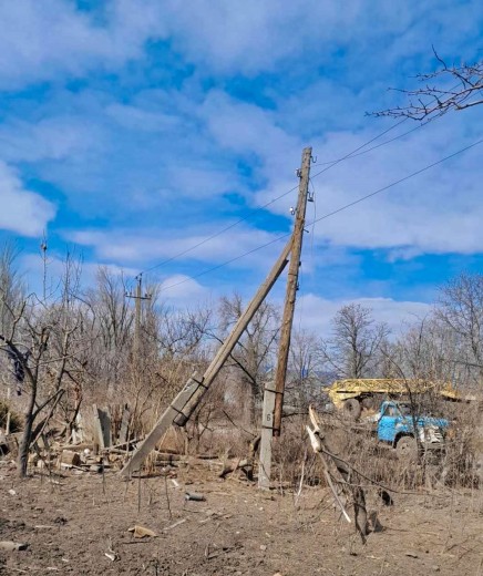
[(409, 97), (405, 106), (376, 112), (376, 116), (430, 120), (446, 114), (450, 110), (464, 110), (483, 104), (483, 62), (448, 65), (433, 48), (440, 64), (439, 70), (418, 74), (423, 84), (415, 90), (399, 90)]

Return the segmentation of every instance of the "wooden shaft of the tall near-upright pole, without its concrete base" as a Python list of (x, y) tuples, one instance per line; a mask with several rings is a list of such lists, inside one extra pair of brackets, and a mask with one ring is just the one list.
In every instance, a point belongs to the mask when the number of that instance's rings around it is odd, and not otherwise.
[(281, 411), (284, 407), (285, 380), (287, 377), (288, 352), (290, 348), (290, 333), (294, 323), (295, 300), (298, 289), (298, 272), (300, 268), (300, 255), (306, 223), (307, 197), (309, 191), (310, 162), (312, 148), (304, 148), (301, 168), (298, 172), (300, 184), (298, 188), (298, 202), (296, 220), (292, 233), (290, 264), (287, 277), (287, 290), (285, 294), (284, 316), (281, 319), (280, 344), (278, 349), (277, 369), (275, 372), (275, 410), (274, 410), (274, 436), (280, 435)]

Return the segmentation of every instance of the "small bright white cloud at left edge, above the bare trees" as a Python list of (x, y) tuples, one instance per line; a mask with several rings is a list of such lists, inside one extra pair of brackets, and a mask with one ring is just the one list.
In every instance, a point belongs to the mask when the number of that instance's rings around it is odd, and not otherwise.
[(0, 161), (0, 229), (22, 236), (41, 236), (55, 216), (55, 206), (25, 189), (17, 172)]

